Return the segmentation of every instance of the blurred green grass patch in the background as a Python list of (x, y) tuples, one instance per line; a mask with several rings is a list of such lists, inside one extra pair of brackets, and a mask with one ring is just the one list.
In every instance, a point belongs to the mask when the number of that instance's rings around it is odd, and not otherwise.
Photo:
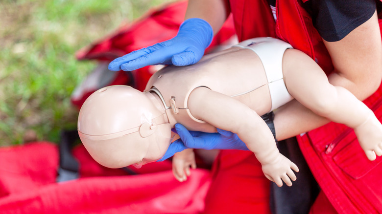
[(76, 128), (74, 88), (95, 67), (74, 54), (169, 0), (0, 1), (0, 146), (58, 142)]

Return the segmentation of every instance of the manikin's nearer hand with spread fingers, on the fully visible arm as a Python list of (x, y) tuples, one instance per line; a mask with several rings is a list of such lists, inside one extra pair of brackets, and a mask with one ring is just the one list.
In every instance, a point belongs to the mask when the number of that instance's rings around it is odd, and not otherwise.
[(297, 165), (281, 153), (279, 153), (277, 158), (275, 158), (271, 163), (263, 164), (262, 170), (265, 177), (270, 181), (275, 182), (279, 187), (283, 186), (283, 181), (287, 184), (287, 186), (292, 186), (292, 182), (290, 180), (296, 180), (296, 175), (292, 170), (296, 172), (299, 171)]

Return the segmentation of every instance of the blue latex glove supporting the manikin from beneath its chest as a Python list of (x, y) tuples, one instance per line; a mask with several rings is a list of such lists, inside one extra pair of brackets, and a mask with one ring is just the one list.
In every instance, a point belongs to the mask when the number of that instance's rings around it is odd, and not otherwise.
[(189, 131), (181, 124), (175, 124), (175, 130), (179, 134), (180, 139), (171, 143), (165, 155), (158, 161), (164, 161), (176, 152), (189, 148), (204, 150), (248, 150), (238, 135), (231, 131), (225, 131), (219, 128), (217, 128), (218, 133)]

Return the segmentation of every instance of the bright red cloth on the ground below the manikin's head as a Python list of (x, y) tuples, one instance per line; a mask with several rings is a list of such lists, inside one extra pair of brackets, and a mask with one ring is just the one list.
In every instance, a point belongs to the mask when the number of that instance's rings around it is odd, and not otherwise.
[(123, 175), (126, 173), (120, 169), (96, 164), (82, 146), (74, 154), (81, 178), (55, 183), (58, 152), (54, 144), (0, 148), (0, 214), (194, 214), (204, 208), (209, 171), (193, 170), (180, 183), (168, 162), (152, 164), (163, 171)]

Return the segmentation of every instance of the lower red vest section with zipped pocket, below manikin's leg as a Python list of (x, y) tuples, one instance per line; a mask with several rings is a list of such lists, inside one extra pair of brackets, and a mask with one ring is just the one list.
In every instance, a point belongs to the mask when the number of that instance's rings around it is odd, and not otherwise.
[[(382, 121), (382, 87), (364, 101)], [(330, 123), (299, 136), (312, 173), (339, 213), (381, 213), (382, 158), (369, 161), (351, 128)]]

